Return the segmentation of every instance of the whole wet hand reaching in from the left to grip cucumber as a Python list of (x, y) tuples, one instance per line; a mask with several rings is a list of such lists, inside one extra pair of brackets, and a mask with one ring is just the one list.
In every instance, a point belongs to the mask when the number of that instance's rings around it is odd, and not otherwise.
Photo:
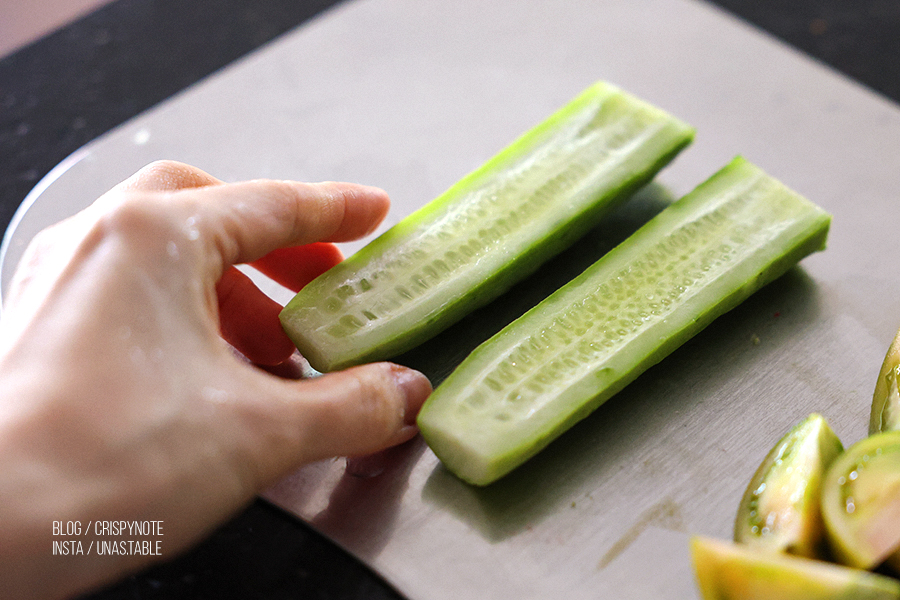
[(35, 239), (0, 321), (11, 597), (68, 595), (153, 560), (54, 557), (53, 521), (163, 521), (173, 556), (300, 465), (415, 435), (431, 390), (415, 371), (377, 363), (295, 381), (251, 364), (283, 363), (293, 345), (280, 306), (232, 266), (260, 261), (296, 288), (340, 259), (303, 245), (361, 237), (387, 206), (363, 186), (223, 184), (165, 162)]

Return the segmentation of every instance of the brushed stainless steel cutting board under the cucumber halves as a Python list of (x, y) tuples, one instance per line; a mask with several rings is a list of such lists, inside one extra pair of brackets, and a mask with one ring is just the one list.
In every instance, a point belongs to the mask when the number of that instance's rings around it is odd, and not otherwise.
[(865, 435), (900, 325), (900, 110), (702, 2), (342, 4), (61, 164), (7, 233), (2, 289), (37, 230), (150, 160), (379, 185), (393, 223), (597, 79), (692, 123), (696, 142), (610, 225), (404, 361), (439, 380), (735, 154), (833, 213), (828, 250), (487, 489), (416, 440), (378, 476), (325, 461), (266, 497), (415, 600), (696, 598), (689, 535), (730, 536), (760, 460), (810, 412), (845, 444)]

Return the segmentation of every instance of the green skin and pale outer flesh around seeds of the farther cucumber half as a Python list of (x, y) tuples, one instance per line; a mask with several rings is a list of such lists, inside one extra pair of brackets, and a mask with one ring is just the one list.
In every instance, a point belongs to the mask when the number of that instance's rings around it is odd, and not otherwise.
[[(325, 314), (327, 311), (322, 309), (322, 298), (330, 297), (336, 289), (348, 282), (358, 281), (362, 277), (360, 273), (366, 269), (375, 271), (379, 261), (391, 260), (385, 257), (402, 256), (403, 248), (407, 245), (414, 247), (414, 240), (420, 239), (424, 233), (434, 234), (435, 223), (455, 205), (466, 202), (470, 191), (477, 193), (481, 186), (493, 183), (492, 178), (496, 178), (496, 173), (511, 169), (518, 162), (526, 162), (530, 154), (535, 149), (541, 150), (541, 144), (552, 139), (561, 127), (568, 126), (574, 131), (575, 125), (572, 123), (577, 124), (579, 119), (585, 120), (595, 113), (599, 114), (599, 107), (603, 103), (610, 103), (614, 109), (619, 105), (632, 109), (639, 107), (643, 111), (642, 118), (644, 113), (652, 116), (654, 130), (649, 141), (628, 155), (624, 164), (618, 165), (614, 171), (604, 171), (594, 176), (590, 192), (577, 191), (557, 200), (554, 218), (560, 215), (558, 222), (524, 245), (515, 239), (501, 241), (494, 252), (505, 252), (505, 262), (482, 268), (483, 273), (477, 273), (474, 278), (469, 276), (464, 285), (457, 283), (456, 289), (451, 289), (452, 282), (439, 284), (440, 289), (446, 293), (433, 294), (435, 301), (427, 306), (423, 304), (421, 309), (417, 309), (417, 313), (400, 310), (390, 318), (380, 319), (380, 322), (372, 320), (358, 332), (347, 335), (346, 339), (336, 339), (328, 333), (335, 319), (349, 309), (341, 307), (333, 311), (332, 315)], [(581, 129), (586, 129), (586, 126)], [(301, 354), (319, 371), (333, 371), (383, 360), (412, 349), (495, 299), (513, 284), (533, 273), (543, 262), (571, 245), (604, 215), (648, 183), (690, 144), (693, 136), (693, 128), (663, 111), (609, 84), (594, 84), (444, 194), (310, 283), (282, 311), (282, 325)], [(576, 193), (584, 198), (575, 206), (567, 206), (572, 203)], [(519, 236), (514, 231), (508, 237)], [(514, 243), (518, 246), (513, 246)], [(471, 273), (472, 270), (467, 272)], [(454, 273), (452, 277), (463, 276), (465, 275)], [(357, 298), (354, 298), (353, 310), (366, 310), (364, 303), (367, 301), (372, 302), (364, 299), (357, 302)]]

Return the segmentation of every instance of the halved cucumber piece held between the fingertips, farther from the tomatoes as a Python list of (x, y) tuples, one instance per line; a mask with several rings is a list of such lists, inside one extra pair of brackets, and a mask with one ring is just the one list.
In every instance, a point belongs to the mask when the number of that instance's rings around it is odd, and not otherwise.
[(319, 371), (405, 352), (573, 243), (693, 135), (664, 111), (594, 84), (307, 285), (282, 325)]

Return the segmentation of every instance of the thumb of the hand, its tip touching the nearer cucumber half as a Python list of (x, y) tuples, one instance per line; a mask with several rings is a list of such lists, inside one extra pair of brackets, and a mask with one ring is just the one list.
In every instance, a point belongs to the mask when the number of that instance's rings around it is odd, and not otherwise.
[(431, 393), (423, 374), (385, 362), (300, 381), (260, 375), (278, 388), (266, 404), (281, 433), (264, 436), (259, 448), (264, 483), (323, 458), (371, 454), (411, 439)]

